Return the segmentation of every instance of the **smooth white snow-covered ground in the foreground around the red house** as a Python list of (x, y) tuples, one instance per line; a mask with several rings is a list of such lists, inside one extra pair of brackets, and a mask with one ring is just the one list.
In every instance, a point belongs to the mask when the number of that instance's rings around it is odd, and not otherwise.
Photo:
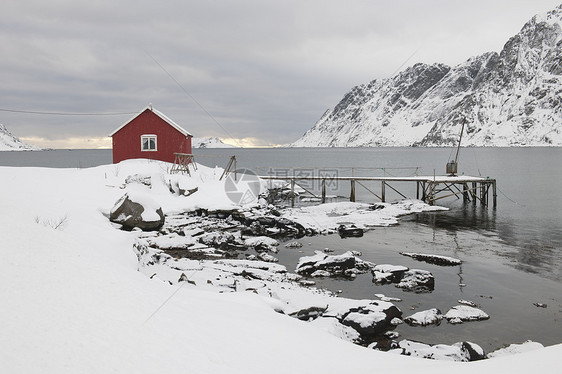
[[(201, 166), (186, 179), (167, 174), (169, 166), (134, 160), (90, 169), (0, 168), (0, 372), (556, 371), (560, 344), (471, 363), (405, 357), (279, 314), (271, 297), (147, 276), (133, 250), (141, 233), (107, 218), (125, 192), (147, 193), (139, 183), (125, 186), (128, 176), (151, 176), (150, 196), (165, 214), (233, 207), (218, 181), (222, 169)], [(198, 192), (170, 193), (175, 178)]]

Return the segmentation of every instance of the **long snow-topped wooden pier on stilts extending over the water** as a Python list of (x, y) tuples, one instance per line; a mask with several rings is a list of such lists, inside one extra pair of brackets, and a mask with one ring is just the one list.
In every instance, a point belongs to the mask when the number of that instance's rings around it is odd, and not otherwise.
[[(301, 184), (307, 181), (319, 181), (321, 185), (320, 199), (326, 202), (326, 181), (350, 182), (349, 201), (355, 201), (356, 185), (376, 196), (380, 201), (386, 202), (386, 190), (391, 189), (403, 198), (408, 197), (392, 186), (395, 182), (416, 183), (416, 199), (423, 200), (429, 205), (434, 205), (436, 201), (447, 198), (461, 198), (465, 203), (476, 204), (480, 202), (482, 206), (489, 206), (489, 195), (492, 193), (492, 206), (497, 206), (496, 180), (488, 177), (471, 177), (465, 175), (457, 176), (413, 176), (413, 177), (335, 177), (335, 176), (260, 176), (264, 180), (281, 180), (291, 184), (291, 206), (295, 206), (295, 186), (299, 186), (311, 195), (313, 192), (303, 187)], [(373, 191), (374, 188), (366, 186), (367, 182), (380, 182), (380, 194)], [(413, 197), (412, 197), (413, 198)]]

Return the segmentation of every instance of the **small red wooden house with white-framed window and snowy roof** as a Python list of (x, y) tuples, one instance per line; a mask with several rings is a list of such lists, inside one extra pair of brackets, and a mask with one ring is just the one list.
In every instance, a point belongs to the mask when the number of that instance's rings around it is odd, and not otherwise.
[(152, 105), (109, 136), (114, 164), (131, 158), (174, 162), (174, 153), (191, 153), (192, 135)]

